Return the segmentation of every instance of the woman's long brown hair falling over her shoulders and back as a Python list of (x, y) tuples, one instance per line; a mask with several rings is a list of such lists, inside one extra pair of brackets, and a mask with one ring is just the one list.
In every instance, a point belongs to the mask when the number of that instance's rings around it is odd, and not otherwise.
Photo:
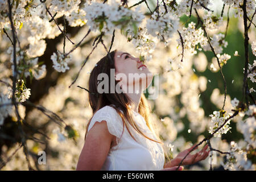
[[(131, 117), (131, 112), (132, 110), (129, 107), (129, 104), (131, 104), (131, 100), (125, 93), (111, 93), (110, 88), (114, 87), (118, 84), (118, 81), (115, 80), (114, 84), (110, 81), (110, 69), (115, 69), (114, 65), (114, 55), (115, 52), (117, 52), (117, 49), (114, 51), (108, 53), (106, 56), (102, 57), (100, 61), (98, 61), (97, 66), (92, 69), (92, 72), (90, 73), (89, 77), (89, 103), (90, 106), (92, 107), (93, 110), (93, 115), (96, 113), (97, 110), (101, 109), (104, 106), (111, 106), (113, 107), (117, 113), (121, 116), (122, 122), (123, 122), (123, 131), (124, 131), (124, 126), (126, 126), (127, 131), (131, 135), (131, 137), (136, 141), (136, 139), (133, 137), (131, 134), (129, 127), (127, 127), (129, 124), (136, 130), (138, 131), (139, 134), (143, 135), (147, 139), (150, 139), (154, 142), (158, 142), (163, 144), (163, 142), (159, 142), (157, 140), (151, 139), (147, 137), (138, 127), (136, 122), (134, 122), (133, 117)], [(97, 91), (97, 77), (100, 73), (106, 73), (109, 78), (109, 92), (104, 92), (104, 93), (98, 93)], [(112, 84), (112, 85), (111, 85)], [(104, 89), (105, 90), (105, 89)], [(121, 111), (123, 112), (121, 112)], [(150, 106), (147, 103), (146, 97), (142, 93), (141, 96), (141, 101), (139, 102), (139, 108), (138, 108), (139, 114), (142, 115), (142, 117), (146, 121), (146, 125), (148, 128), (152, 131), (153, 134), (154, 130), (152, 129), (152, 125), (150, 122), (149, 114), (150, 114)], [(90, 118), (87, 126), (86, 126), (86, 133), (85, 133), (85, 138), (86, 134), (88, 133), (88, 127), (90, 124), (92, 118)], [(126, 120), (127, 119), (127, 120)], [(123, 133), (122, 131), (122, 133)], [(158, 136), (155, 135), (156, 138), (160, 140)]]

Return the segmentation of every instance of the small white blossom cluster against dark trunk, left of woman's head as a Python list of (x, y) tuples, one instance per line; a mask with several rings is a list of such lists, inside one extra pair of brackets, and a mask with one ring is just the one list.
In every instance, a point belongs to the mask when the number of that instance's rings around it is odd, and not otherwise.
[(56, 69), (57, 72), (65, 72), (68, 67), (68, 63), (71, 61), (72, 56), (71, 55), (64, 55), (60, 51), (57, 51), (57, 53), (53, 52), (53, 55), (51, 55), (51, 60), (53, 62), (53, 68)]

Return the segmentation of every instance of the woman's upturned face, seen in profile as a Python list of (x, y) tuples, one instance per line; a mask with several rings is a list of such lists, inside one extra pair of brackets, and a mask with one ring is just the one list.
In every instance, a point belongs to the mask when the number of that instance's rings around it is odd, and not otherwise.
[(121, 80), (127, 87), (135, 85), (136, 88), (139, 84), (142, 91), (150, 85), (153, 74), (138, 57), (125, 51), (117, 51), (114, 59), (116, 80)]

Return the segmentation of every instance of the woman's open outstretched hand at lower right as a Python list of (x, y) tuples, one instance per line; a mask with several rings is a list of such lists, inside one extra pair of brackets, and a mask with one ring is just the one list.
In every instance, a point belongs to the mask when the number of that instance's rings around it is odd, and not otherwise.
[[(193, 147), (195, 147), (195, 145)], [(176, 156), (176, 158), (172, 159), (172, 160), (175, 161), (175, 166), (179, 165), (181, 160), (188, 154), (188, 152), (190, 152), (193, 149), (193, 147), (188, 148), (187, 150), (184, 150), (184, 151), (180, 152)], [(208, 155), (209, 155), (209, 152), (210, 152), (210, 151), (206, 151), (207, 148), (208, 148), (208, 144), (201, 151), (196, 152), (196, 154), (194, 154), (194, 155), (188, 154), (188, 156), (183, 160), (181, 165), (195, 164), (195, 163), (199, 162), (200, 160), (206, 159), (208, 157)]]

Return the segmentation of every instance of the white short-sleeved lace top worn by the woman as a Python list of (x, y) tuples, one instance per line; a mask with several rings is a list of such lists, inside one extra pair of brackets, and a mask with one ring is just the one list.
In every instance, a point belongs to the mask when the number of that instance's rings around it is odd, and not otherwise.
[[(155, 135), (148, 129), (141, 114), (133, 111), (135, 121), (146, 136), (155, 139)], [(152, 171), (163, 169), (164, 151), (161, 144), (149, 140), (130, 127), (129, 130), (136, 138), (131, 138), (126, 127), (123, 131), (122, 119), (113, 107), (105, 106), (96, 111), (88, 127), (94, 123), (106, 121), (109, 133), (117, 137), (117, 145), (112, 147), (101, 170), (106, 171)], [(123, 135), (121, 137), (123, 131)]]

